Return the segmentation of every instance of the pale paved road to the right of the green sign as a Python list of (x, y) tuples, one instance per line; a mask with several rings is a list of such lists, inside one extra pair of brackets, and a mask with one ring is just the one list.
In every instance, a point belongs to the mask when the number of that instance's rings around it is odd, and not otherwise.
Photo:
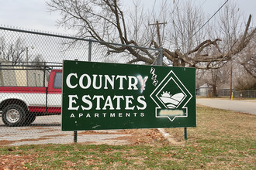
[(229, 100), (229, 99), (196, 99), (197, 104), (208, 107), (234, 110), (237, 112), (256, 114), (256, 100)]

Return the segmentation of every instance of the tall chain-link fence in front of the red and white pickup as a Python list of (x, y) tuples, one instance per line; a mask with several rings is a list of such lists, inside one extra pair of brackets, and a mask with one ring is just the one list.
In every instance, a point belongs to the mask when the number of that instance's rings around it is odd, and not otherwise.
[(134, 55), (154, 60), (161, 59), (161, 52), (0, 27), (0, 138), (21, 133), (33, 135), (46, 127), (61, 131), (64, 59), (144, 64)]

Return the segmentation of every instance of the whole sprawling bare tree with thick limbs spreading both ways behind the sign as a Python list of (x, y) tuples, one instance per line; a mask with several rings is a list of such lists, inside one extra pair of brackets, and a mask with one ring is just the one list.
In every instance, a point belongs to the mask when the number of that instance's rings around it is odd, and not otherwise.
[[(123, 11), (122, 3), (119, 0), (51, 0), (47, 4), (50, 7), (50, 11), (61, 12), (62, 19), (57, 22), (58, 26), (74, 29), (78, 32), (75, 36), (99, 40), (104, 46), (107, 46), (109, 53), (128, 52), (133, 55), (129, 63), (137, 63), (140, 61), (148, 64), (154, 63), (155, 55), (150, 53), (147, 49), (138, 50), (130, 46), (120, 47), (104, 43), (117, 42), (134, 46), (153, 45), (157, 49), (161, 47), (154, 39), (150, 39), (151, 43), (149, 43), (149, 37), (144, 37), (144, 42), (138, 41), (140, 32), (150, 29), (145, 27), (141, 27), (140, 29), (139, 25), (135, 25), (133, 30), (127, 29), (128, 27), (130, 28), (130, 26), (127, 26), (127, 19), (130, 18), (126, 16), (127, 12)], [(174, 2), (174, 6), (177, 8), (174, 9), (176, 13), (173, 14), (177, 16), (177, 18), (172, 22), (176, 28), (176, 39), (174, 39), (174, 41), (177, 42), (177, 44), (183, 45), (170, 46), (170, 43), (168, 43), (168, 48), (163, 48), (163, 54), (168, 61), (168, 63), (165, 64), (168, 65), (194, 66), (199, 69), (219, 68), (219, 63), (223, 61), (227, 62), (232, 56), (240, 53), (256, 32), (255, 28), (249, 31), (251, 25), (250, 15), (240, 39), (231, 42), (231, 44), (233, 44), (231, 46), (232, 48), (223, 50), (219, 45), (221, 41), (220, 38), (203, 40), (203, 38), (205, 38), (203, 35), (195, 36), (198, 32), (202, 32), (202, 18), (199, 17), (201, 14), (195, 6), (187, 3), (185, 5), (186, 10), (184, 11), (179, 10), (179, 2)], [(137, 14), (139, 14), (139, 12), (137, 12)], [(142, 16), (141, 13), (140, 16)], [(133, 16), (133, 19), (137, 18)], [(141, 19), (137, 19), (136, 23), (142, 23)], [(140, 26), (141, 25), (142, 24), (140, 24)], [(143, 26), (146, 25), (147, 24), (144, 23)], [(178, 38), (180, 35), (185, 36)], [(171, 37), (171, 39), (175, 37)], [(163, 46), (165, 46), (165, 44), (163, 44)], [(218, 51), (218, 53), (207, 53), (212, 49)]]

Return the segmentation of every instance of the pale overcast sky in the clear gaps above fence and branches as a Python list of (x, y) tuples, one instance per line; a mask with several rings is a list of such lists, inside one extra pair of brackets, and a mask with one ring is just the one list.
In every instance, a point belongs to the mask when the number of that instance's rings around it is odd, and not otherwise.
[[(56, 20), (60, 18), (57, 13), (47, 12), (46, 2), (49, 0), (0, 0), (0, 26), (14, 26), (22, 29), (40, 30), (45, 32), (64, 33), (64, 29), (57, 28)], [(131, 0), (123, 0), (131, 1)], [(148, 7), (154, 0), (145, 0)], [(173, 1), (173, 0), (170, 0)], [(237, 2), (240, 12), (244, 13), (247, 20), (249, 14), (253, 15), (255, 26), (256, 1), (255, 0), (230, 0)], [(159, 0), (157, 0), (159, 2)], [(214, 12), (226, 0), (194, 0), (202, 6), (207, 16)]]

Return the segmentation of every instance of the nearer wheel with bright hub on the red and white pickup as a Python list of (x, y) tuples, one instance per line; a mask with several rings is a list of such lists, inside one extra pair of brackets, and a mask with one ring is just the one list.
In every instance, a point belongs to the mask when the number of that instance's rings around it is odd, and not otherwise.
[(6, 126), (22, 126), (24, 124), (25, 118), (25, 110), (17, 104), (10, 104), (2, 110), (2, 121)]

